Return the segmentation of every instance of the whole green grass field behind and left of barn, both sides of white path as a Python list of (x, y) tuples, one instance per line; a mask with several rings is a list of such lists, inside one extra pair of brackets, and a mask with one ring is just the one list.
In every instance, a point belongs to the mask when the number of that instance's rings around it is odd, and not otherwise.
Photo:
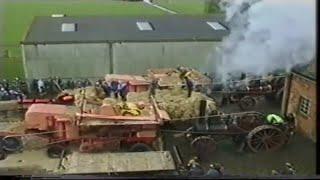
[[(155, 1), (179, 14), (204, 15), (203, 0)], [(9, 50), (10, 60), (0, 61), (0, 78), (23, 76), (19, 43), (35, 16), (153, 16), (167, 14), (143, 2), (121, 0), (0, 0), (0, 48)], [(5, 46), (5, 47), (4, 47)], [(0, 59), (1, 60), (1, 59)], [(20, 65), (19, 65), (20, 64)]]

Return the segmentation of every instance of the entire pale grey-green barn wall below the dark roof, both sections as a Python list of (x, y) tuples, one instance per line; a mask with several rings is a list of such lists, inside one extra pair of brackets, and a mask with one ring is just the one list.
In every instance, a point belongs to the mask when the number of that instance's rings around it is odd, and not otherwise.
[[(219, 42), (107, 43), (23, 45), (27, 79), (90, 78), (107, 73), (143, 74), (149, 68), (196, 68), (213, 72), (212, 54)], [(112, 56), (112, 60), (110, 60)], [(110, 62), (113, 66), (110, 67)]]

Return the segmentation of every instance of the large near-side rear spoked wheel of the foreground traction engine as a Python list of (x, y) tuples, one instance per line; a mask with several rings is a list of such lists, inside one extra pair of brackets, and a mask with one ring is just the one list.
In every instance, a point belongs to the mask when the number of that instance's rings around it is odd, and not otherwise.
[(253, 152), (274, 151), (286, 142), (286, 135), (279, 129), (270, 125), (254, 128), (247, 136), (248, 147)]

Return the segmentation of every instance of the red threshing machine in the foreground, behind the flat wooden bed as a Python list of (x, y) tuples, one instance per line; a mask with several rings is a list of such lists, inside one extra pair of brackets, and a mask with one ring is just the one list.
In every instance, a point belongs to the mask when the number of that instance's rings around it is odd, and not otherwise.
[[(156, 105), (150, 106), (151, 115), (134, 117), (113, 113), (72, 115), (66, 105), (52, 104), (46, 100), (40, 101), (44, 103), (38, 102), (26, 101), (30, 103), (30, 107), (25, 114), (25, 130), (52, 132), (47, 137), (51, 143), (77, 142), (81, 152), (114, 151), (118, 150), (120, 145), (134, 143), (151, 145), (157, 139), (163, 116), (159, 114)], [(103, 129), (98, 132), (90, 131), (90, 128)]]

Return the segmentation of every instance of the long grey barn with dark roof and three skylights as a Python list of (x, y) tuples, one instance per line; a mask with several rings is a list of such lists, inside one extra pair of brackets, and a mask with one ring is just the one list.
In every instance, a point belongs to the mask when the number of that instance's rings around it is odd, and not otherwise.
[(36, 17), (21, 42), (26, 79), (143, 74), (209, 60), (229, 30), (223, 17)]

